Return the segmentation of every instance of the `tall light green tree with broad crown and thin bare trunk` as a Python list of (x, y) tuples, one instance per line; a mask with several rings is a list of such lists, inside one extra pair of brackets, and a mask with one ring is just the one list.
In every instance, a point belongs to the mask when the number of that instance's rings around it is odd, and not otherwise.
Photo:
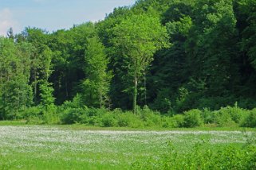
[(113, 43), (128, 64), (128, 74), (133, 78), (133, 111), (136, 114), (137, 87), (144, 71), (152, 63), (157, 50), (167, 46), (167, 31), (159, 17), (138, 14), (126, 17), (113, 28)]

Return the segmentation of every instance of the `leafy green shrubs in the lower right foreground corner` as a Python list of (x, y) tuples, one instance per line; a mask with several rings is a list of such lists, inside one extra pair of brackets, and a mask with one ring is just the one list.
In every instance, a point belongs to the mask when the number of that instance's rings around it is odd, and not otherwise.
[(209, 147), (209, 142), (199, 142), (193, 145), (191, 152), (180, 153), (179, 149), (168, 143), (167, 153), (159, 159), (149, 158), (136, 161), (133, 169), (254, 169), (256, 168), (256, 148), (254, 145), (225, 147), (215, 145)]

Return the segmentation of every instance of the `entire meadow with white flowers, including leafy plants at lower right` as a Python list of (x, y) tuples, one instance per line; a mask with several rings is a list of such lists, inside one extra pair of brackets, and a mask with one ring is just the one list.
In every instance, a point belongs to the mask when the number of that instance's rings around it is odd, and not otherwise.
[[(201, 160), (197, 169), (206, 169), (223, 151), (220, 169), (253, 169), (254, 137), (253, 131), (0, 126), (0, 169), (195, 169)], [(205, 151), (216, 162), (207, 164)]]

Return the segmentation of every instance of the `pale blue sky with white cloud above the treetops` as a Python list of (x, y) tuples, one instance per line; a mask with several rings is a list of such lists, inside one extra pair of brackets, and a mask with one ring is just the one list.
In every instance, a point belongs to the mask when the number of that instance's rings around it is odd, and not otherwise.
[(49, 32), (69, 29), (86, 21), (103, 20), (118, 6), (131, 6), (136, 0), (0, 0), (0, 36), (10, 27), (21, 33), (25, 27)]

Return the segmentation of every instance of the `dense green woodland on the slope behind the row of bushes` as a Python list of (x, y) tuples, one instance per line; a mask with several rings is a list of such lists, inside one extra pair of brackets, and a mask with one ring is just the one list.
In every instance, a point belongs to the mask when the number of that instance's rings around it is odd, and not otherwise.
[(256, 0), (139, 0), (104, 21), (0, 37), (1, 119), (72, 105), (251, 110), (255, 85)]

